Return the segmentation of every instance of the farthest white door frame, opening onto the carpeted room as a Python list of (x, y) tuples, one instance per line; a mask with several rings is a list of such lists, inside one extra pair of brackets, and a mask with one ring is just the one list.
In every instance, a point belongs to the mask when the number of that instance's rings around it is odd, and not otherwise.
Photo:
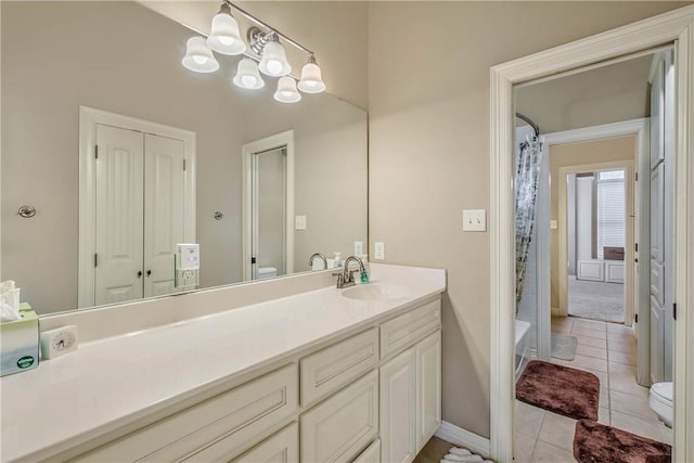
[[(631, 220), (633, 213), (633, 160), (611, 160), (607, 163), (591, 163), (560, 167), (558, 170), (558, 271), (560, 271), (560, 316), (568, 316), (568, 210), (566, 176), (586, 171), (606, 169), (625, 170), (625, 321), (633, 319), (633, 229)], [(562, 295), (564, 301), (562, 305)], [(627, 324), (627, 323), (625, 323)], [(631, 323), (629, 323), (631, 324)]]

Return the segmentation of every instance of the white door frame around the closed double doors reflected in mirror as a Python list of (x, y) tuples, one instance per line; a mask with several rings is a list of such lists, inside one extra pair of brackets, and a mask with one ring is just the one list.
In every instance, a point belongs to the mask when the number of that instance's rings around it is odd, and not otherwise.
[(183, 236), (187, 243), (195, 243), (195, 132), (89, 106), (79, 106), (77, 308), (94, 306), (94, 255), (97, 253), (95, 146), (98, 124), (183, 141), (185, 152)]

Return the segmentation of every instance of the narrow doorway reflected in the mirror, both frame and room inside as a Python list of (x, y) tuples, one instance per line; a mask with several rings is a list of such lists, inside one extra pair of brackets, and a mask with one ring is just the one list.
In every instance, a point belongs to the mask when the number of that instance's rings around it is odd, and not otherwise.
[(294, 132), (243, 146), (244, 281), (281, 276), (294, 259)]

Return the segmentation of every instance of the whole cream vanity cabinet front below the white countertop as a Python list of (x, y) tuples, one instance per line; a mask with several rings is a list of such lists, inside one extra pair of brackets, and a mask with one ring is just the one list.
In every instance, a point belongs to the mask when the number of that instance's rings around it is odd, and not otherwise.
[(441, 423), (440, 297), (396, 313), (73, 461), (411, 462)]

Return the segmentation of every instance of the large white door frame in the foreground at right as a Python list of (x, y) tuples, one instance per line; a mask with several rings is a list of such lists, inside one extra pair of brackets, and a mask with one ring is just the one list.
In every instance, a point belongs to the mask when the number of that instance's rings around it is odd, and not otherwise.
[[(490, 453), (512, 461), (515, 424), (513, 368), (515, 260), (513, 208), (514, 92), (517, 83), (674, 42), (677, 62), (678, 320), (674, 345), (673, 461), (694, 461), (694, 7), (687, 5), (490, 69)], [(690, 287), (687, 287), (690, 286)]]

